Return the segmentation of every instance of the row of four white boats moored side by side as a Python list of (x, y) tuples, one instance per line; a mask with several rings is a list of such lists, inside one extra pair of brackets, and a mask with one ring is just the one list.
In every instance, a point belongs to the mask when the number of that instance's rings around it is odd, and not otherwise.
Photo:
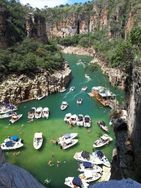
[(79, 127), (86, 127), (89, 128), (91, 127), (91, 118), (89, 115), (82, 115), (82, 114), (71, 114), (67, 113), (64, 117), (64, 122), (68, 123), (72, 126), (77, 125)]

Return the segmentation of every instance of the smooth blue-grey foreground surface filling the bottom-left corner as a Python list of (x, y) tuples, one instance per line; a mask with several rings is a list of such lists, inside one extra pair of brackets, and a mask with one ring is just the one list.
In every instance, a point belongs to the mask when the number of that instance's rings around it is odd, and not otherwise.
[(0, 149), (0, 187), (1, 188), (44, 188), (29, 172), (26, 170), (6, 163), (4, 154)]

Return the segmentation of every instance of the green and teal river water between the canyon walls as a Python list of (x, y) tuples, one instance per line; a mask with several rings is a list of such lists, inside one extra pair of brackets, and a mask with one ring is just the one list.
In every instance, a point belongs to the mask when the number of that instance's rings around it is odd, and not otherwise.
[[(51, 182), (47, 185), (48, 188), (63, 188), (64, 179), (67, 176), (76, 176), (77, 162), (73, 159), (76, 151), (87, 150), (92, 151), (92, 144), (95, 139), (103, 134), (103, 131), (96, 125), (96, 121), (104, 120), (109, 122), (109, 108), (102, 107), (94, 99), (90, 98), (87, 92), (91, 91), (92, 86), (103, 85), (110, 88), (117, 94), (118, 100), (124, 99), (122, 91), (112, 87), (105, 75), (100, 70), (95, 72), (85, 72), (83, 65), (76, 63), (81, 58), (86, 63), (91, 60), (86, 56), (64, 55), (72, 69), (73, 79), (69, 85), (75, 86), (75, 91), (69, 92), (69, 87), (65, 93), (58, 93), (44, 98), (41, 101), (32, 101), (23, 103), (19, 106), (18, 112), (23, 113), (23, 118), (14, 125), (8, 125), (8, 120), (0, 121), (0, 143), (7, 136), (19, 135), (24, 140), (23, 149), (16, 152), (5, 152), (6, 158), (13, 164), (19, 165), (30, 171), (41, 183), (44, 184), (45, 179), (50, 179)], [(88, 74), (91, 79), (85, 78)], [(87, 92), (82, 92), (83, 86), (88, 86)], [(77, 105), (77, 98), (83, 98), (83, 104)], [(60, 110), (60, 104), (63, 100), (69, 102), (69, 108), (65, 111)], [(49, 120), (35, 120), (32, 123), (27, 122), (27, 112), (31, 107), (48, 106), (50, 109)], [(92, 118), (92, 128), (88, 131), (86, 128), (70, 128), (63, 122), (64, 115), (68, 112), (89, 114)], [(112, 128), (109, 126), (110, 135), (113, 137)], [(35, 132), (43, 132), (44, 144), (40, 151), (34, 150), (32, 139)], [(52, 139), (57, 139), (60, 135), (67, 132), (79, 133), (79, 144), (66, 151), (61, 150), (58, 145), (51, 142)], [(114, 142), (104, 147), (102, 151), (111, 160), (112, 149)], [(49, 166), (48, 161), (52, 160), (53, 165)], [(57, 165), (57, 161), (60, 165)]]

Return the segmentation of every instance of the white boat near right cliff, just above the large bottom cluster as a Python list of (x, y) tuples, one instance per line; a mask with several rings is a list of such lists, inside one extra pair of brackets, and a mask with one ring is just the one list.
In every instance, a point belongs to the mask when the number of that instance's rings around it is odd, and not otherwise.
[(104, 134), (94, 142), (93, 147), (100, 148), (102, 146), (105, 146), (106, 144), (109, 144), (112, 140), (112, 137), (110, 137), (107, 134)]

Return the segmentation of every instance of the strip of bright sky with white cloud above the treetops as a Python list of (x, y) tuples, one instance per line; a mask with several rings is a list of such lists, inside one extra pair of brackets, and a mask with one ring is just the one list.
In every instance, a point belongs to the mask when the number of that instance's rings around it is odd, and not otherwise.
[(20, 0), (23, 5), (29, 3), (34, 8), (44, 8), (44, 6), (55, 7), (63, 4), (85, 3), (88, 0)]

